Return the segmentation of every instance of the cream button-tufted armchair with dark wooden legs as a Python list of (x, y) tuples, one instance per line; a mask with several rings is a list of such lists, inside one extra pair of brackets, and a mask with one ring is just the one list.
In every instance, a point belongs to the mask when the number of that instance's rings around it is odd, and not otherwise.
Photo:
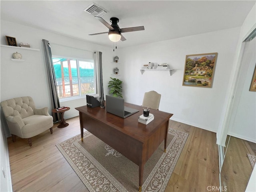
[(53, 118), (48, 113), (48, 107), (36, 109), (31, 97), (18, 97), (2, 101), (1, 107), (13, 142), (16, 141), (16, 136), (28, 138), (28, 144), (32, 146), (33, 136), (48, 129), (52, 134)]

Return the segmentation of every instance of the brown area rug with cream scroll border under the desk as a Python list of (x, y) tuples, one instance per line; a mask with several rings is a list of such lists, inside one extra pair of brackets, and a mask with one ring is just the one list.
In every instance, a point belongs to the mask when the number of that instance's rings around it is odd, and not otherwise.
[[(165, 190), (187, 138), (169, 128), (166, 153), (162, 142), (144, 166), (143, 192)], [(90, 132), (56, 146), (90, 192), (138, 191), (139, 167)]]

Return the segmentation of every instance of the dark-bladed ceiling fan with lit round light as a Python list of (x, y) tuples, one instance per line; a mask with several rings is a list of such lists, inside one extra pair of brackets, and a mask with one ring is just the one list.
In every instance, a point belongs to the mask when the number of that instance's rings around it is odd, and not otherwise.
[(109, 30), (108, 32), (102, 32), (102, 33), (94, 33), (94, 34), (89, 34), (89, 35), (99, 35), (99, 34), (106, 34), (108, 33), (108, 38), (112, 42), (118, 42), (119, 40), (125, 41), (126, 38), (122, 35), (122, 33), (125, 32), (133, 32), (133, 31), (142, 31), (144, 30), (144, 26), (138, 26), (138, 27), (128, 27), (128, 28), (121, 28), (118, 26), (119, 19), (116, 17), (110, 18), (110, 22), (112, 23), (111, 25), (108, 24), (104, 19), (101, 17), (95, 16), (102, 24), (104, 24)]

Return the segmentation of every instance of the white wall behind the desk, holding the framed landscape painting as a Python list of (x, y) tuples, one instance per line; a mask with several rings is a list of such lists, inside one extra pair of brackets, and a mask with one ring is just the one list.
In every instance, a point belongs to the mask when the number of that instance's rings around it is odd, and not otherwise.
[[(144, 92), (162, 94), (159, 110), (173, 113), (172, 120), (217, 132), (228, 88), (240, 28), (232, 28), (174, 40), (122, 49), (124, 96), (142, 104)], [(218, 52), (212, 88), (182, 86), (186, 55)], [(174, 69), (145, 71), (143, 64), (167, 62)]]

